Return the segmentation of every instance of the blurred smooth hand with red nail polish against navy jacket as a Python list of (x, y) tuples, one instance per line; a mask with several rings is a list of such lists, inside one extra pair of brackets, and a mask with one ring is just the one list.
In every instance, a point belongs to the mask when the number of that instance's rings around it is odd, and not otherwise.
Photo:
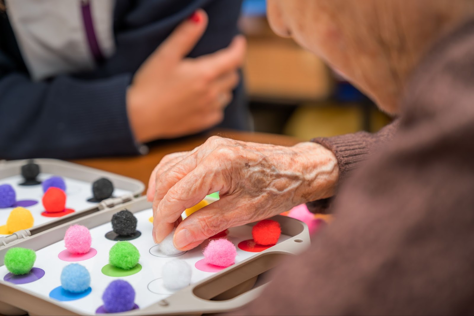
[(127, 91), (127, 112), (139, 142), (196, 133), (222, 121), (239, 82), (246, 42), (237, 36), (215, 53), (186, 58), (207, 23), (206, 12), (197, 10), (135, 74)]

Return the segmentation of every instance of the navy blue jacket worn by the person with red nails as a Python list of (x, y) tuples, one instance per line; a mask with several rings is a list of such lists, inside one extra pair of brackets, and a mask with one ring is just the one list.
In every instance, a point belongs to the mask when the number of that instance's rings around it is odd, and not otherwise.
[[(138, 154), (126, 112), (133, 74), (198, 8), (209, 26), (190, 56), (228, 46), (237, 34), (240, 0), (117, 0), (116, 51), (91, 72), (33, 82), (7, 14), (0, 15), (0, 158), (83, 158)], [(220, 126), (245, 129), (242, 84)]]

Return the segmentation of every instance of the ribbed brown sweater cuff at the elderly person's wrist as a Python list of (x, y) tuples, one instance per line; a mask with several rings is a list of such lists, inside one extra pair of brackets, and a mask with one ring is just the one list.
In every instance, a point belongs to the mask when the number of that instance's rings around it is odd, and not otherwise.
[(344, 180), (369, 155), (365, 138), (370, 137), (366, 132), (346, 134), (330, 138), (311, 139), (331, 150), (339, 165), (339, 181)]

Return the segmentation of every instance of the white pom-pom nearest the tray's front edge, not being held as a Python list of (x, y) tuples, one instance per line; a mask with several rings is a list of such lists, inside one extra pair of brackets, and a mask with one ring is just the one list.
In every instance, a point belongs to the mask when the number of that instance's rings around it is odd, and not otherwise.
[(191, 283), (191, 267), (186, 261), (175, 259), (163, 266), (163, 285), (169, 290), (179, 290)]

